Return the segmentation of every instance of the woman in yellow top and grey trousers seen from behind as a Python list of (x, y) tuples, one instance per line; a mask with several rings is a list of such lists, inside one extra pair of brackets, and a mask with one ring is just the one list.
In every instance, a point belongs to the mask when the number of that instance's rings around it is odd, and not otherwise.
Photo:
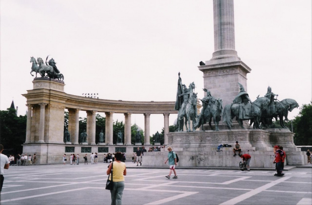
[(126, 164), (121, 162), (121, 160), (122, 160), (122, 154), (121, 152), (117, 152), (115, 154), (115, 161), (109, 164), (108, 169), (106, 171), (106, 174), (109, 175), (111, 173), (112, 163), (114, 163), (113, 164), (114, 189), (111, 190), (111, 198), (112, 198), (111, 204), (112, 205), (121, 204), (122, 192), (123, 192), (123, 189), (125, 188), (124, 176), (126, 176), (127, 170), (126, 170)]

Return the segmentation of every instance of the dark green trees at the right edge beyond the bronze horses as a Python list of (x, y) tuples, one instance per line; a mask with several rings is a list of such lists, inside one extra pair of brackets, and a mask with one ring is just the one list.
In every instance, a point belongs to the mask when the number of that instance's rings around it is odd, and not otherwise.
[(300, 107), (299, 115), (292, 120), (295, 145), (312, 145), (312, 101)]

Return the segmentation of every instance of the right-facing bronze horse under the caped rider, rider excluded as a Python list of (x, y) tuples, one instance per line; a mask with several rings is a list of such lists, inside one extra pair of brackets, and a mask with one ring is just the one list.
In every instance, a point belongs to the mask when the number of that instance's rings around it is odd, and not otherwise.
[(241, 119), (239, 118), (239, 109), (240, 104), (230, 104), (225, 105), (223, 110), (223, 121), (227, 125), (228, 129), (231, 129), (232, 119), (236, 117), (238, 119), (239, 125), (244, 129), (243, 126), (243, 120), (253, 120), (254, 122), (254, 128), (260, 129), (260, 118), (261, 118), (261, 110), (264, 106), (268, 105), (270, 103), (270, 100), (266, 97), (260, 97), (257, 100), (253, 102), (251, 105), (251, 116)]

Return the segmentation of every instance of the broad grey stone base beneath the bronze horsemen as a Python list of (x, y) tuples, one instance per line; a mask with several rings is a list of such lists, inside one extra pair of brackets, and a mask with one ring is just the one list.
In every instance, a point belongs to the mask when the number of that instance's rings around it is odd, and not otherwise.
[[(179, 155), (179, 166), (210, 166), (210, 167), (239, 167), (241, 158), (233, 157), (233, 147), (239, 141), (242, 154), (252, 156), (251, 166), (274, 168), (272, 163), (275, 155), (273, 146), (281, 145), (286, 152), (288, 165), (303, 165), (304, 152), (300, 152), (293, 144), (294, 133), (288, 129), (232, 129), (220, 131), (170, 132), (168, 146)], [(232, 147), (222, 148), (217, 152), (220, 144)], [(164, 166), (167, 152), (147, 153), (147, 166)]]

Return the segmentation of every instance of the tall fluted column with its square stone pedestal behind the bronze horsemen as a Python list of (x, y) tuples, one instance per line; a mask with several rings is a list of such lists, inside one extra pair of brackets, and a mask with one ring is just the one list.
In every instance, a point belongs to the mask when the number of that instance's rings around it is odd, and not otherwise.
[[(213, 0), (214, 52), (203, 72), (204, 88), (215, 98), (221, 98), (223, 107), (231, 104), (240, 92), (239, 84), (247, 91), (247, 74), (251, 72), (235, 50), (233, 0)], [(206, 94), (204, 94), (206, 95)]]

